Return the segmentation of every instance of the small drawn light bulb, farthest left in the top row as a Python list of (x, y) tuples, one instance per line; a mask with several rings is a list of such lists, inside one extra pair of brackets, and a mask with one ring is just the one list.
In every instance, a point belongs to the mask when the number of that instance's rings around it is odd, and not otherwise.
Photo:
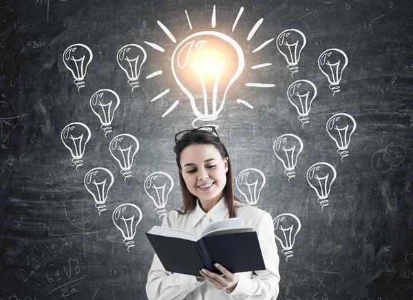
[(85, 87), (85, 76), (87, 66), (92, 61), (93, 53), (87, 45), (74, 44), (63, 52), (63, 63), (72, 72), (74, 84), (78, 87)]

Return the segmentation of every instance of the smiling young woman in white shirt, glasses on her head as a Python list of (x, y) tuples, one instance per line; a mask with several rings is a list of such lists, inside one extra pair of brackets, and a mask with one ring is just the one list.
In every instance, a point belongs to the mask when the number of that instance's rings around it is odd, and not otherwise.
[(211, 222), (240, 217), (257, 232), (266, 270), (233, 274), (217, 261), (216, 268), (223, 275), (200, 270), (195, 277), (167, 272), (155, 255), (146, 286), (149, 300), (276, 299), (279, 257), (273, 219), (233, 196), (231, 161), (215, 127), (182, 131), (175, 142), (183, 207), (166, 215), (162, 226), (199, 236)]

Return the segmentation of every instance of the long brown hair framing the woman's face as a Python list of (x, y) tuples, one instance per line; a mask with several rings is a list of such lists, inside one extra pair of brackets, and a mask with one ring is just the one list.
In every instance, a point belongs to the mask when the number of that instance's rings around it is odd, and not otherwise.
[(195, 131), (188, 131), (184, 133), (182, 138), (176, 142), (175, 147), (173, 147), (173, 152), (176, 153), (176, 164), (178, 164), (179, 169), (179, 182), (182, 191), (182, 202), (183, 206), (181, 210), (176, 209), (180, 215), (184, 215), (186, 213), (190, 213), (196, 207), (196, 200), (197, 197), (193, 195), (188, 187), (187, 184), (184, 182), (184, 178), (182, 176), (182, 167), (180, 165), (180, 155), (182, 150), (188, 147), (191, 144), (212, 144), (218, 151), (220, 151), (220, 155), (222, 159), (228, 161), (228, 171), (226, 172), (226, 184), (224, 187), (224, 199), (226, 202), (226, 207), (228, 208), (228, 215), (229, 218), (235, 217), (235, 207), (234, 201), (240, 202), (237, 197), (233, 194), (233, 175), (231, 169), (231, 160), (229, 159), (228, 151), (220, 139), (213, 135), (213, 133), (203, 132), (202, 130), (195, 130)]

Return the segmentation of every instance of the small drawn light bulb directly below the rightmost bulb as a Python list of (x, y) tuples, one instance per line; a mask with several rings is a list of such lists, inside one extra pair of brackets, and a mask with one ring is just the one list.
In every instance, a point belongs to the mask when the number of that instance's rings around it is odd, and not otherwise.
[(307, 181), (310, 186), (315, 189), (317, 193), (318, 202), (321, 204), (321, 210), (328, 205), (328, 195), (330, 194), (330, 187), (335, 181), (337, 172), (334, 167), (327, 162), (318, 162), (313, 164), (307, 171)]

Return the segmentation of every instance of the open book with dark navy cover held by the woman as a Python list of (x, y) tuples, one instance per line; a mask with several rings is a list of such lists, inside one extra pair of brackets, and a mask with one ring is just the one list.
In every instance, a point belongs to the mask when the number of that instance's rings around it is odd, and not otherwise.
[(200, 276), (200, 269), (206, 268), (220, 274), (215, 262), (230, 272), (265, 269), (257, 233), (239, 217), (207, 225), (200, 237), (160, 226), (146, 235), (169, 272)]

